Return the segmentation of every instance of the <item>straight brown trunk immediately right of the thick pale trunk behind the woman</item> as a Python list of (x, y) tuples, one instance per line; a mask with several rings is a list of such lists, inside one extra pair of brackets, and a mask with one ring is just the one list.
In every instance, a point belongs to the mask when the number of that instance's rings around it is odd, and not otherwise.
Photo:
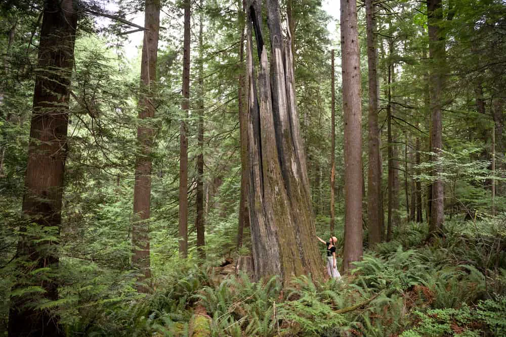
[(378, 102), (377, 102), (377, 47), (376, 47), (376, 20), (374, 12), (376, 5), (372, 0), (365, 1), (367, 26), (367, 64), (369, 75), (369, 167), (367, 171), (367, 214), (369, 217), (369, 247), (381, 242), (381, 163), (379, 162), (379, 131), (378, 131)]

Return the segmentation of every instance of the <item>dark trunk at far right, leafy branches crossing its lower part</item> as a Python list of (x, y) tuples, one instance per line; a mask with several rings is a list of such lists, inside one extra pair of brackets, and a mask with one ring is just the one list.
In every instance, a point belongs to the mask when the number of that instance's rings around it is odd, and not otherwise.
[[(441, 0), (427, 0), (428, 26), (429, 26), (429, 58), (432, 59), (431, 69), (431, 152), (434, 153), (432, 161), (435, 164), (434, 175), (442, 173), (442, 168), (437, 164), (443, 148), (442, 137), (442, 88), (443, 88), (443, 63), (445, 58), (445, 36), (441, 28), (443, 9)], [(429, 222), (429, 234), (435, 234), (443, 226), (444, 220), (444, 185), (443, 180), (437, 178), (432, 184), (432, 207)]]

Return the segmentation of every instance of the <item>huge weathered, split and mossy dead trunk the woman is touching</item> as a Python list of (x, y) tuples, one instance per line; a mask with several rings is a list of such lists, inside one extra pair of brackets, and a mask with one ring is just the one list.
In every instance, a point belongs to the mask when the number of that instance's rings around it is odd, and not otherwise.
[[(311, 273), (323, 277), (315, 240), (306, 159), (293, 82), (290, 35), (284, 37), (277, 0), (268, 0), (271, 60), (262, 34), (259, 0), (247, 1), (249, 207), (255, 275), (283, 282)], [(259, 59), (254, 74), (252, 30)]]

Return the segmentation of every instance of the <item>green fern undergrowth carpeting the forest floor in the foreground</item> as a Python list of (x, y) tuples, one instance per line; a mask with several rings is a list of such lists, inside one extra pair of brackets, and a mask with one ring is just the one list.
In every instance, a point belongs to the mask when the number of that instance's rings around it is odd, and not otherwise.
[(431, 244), (426, 225), (408, 224), (342, 280), (303, 275), (284, 287), (219, 281), (210, 264), (179, 260), (139, 295), (131, 271), (104, 282), (112, 274), (97, 266), (74, 268), (53, 310), (68, 336), (502, 336), (503, 220), (447, 223)]

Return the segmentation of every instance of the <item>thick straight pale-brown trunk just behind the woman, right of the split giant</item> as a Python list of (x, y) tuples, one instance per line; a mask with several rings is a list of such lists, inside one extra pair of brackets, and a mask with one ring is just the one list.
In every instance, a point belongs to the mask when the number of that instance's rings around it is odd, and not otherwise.
[(362, 106), (357, 4), (341, 0), (345, 156), (345, 248), (343, 269), (362, 259)]

